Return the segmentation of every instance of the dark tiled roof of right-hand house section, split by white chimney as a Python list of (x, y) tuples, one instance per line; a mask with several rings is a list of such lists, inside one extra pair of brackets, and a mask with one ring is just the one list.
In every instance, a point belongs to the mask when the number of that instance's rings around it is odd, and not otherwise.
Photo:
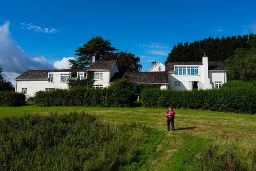
[[(174, 66), (187, 66), (187, 65), (203, 65), (202, 61), (190, 61), (190, 62), (167, 62), (166, 71), (174, 71)], [(208, 71), (224, 71), (227, 70), (223, 61), (208, 61)]]

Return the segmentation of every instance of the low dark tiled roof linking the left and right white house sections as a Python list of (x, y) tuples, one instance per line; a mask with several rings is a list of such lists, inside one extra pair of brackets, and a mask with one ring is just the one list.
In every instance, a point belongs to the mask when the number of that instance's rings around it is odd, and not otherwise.
[(159, 72), (125, 72), (133, 83), (168, 83), (168, 73)]

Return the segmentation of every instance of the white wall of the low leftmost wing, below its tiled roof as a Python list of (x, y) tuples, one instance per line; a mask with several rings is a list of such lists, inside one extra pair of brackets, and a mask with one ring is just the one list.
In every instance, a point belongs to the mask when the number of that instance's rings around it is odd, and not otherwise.
[[(53, 81), (55, 77), (53, 77)], [(17, 80), (17, 92), (22, 92), (22, 88), (27, 88), (27, 95), (34, 96), (35, 92), (44, 90), (45, 88), (59, 88), (66, 89), (68, 88), (67, 83), (49, 83), (48, 80)]]

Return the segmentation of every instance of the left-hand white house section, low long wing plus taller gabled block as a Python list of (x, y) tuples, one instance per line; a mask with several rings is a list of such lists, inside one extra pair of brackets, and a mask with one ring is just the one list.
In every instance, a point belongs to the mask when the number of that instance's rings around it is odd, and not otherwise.
[(34, 96), (37, 91), (52, 91), (68, 88), (68, 80), (85, 79), (87, 71), (94, 71), (94, 88), (107, 87), (115, 73), (118, 73), (118, 64), (115, 60), (99, 60), (85, 69), (59, 69), (59, 70), (28, 70), (17, 77), (16, 92)]

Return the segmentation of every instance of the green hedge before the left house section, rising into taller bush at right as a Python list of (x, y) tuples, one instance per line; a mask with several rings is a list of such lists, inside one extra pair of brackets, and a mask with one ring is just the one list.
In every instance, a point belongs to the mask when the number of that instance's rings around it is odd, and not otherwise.
[(38, 106), (102, 106), (129, 107), (133, 104), (134, 87), (126, 78), (107, 88), (75, 87), (54, 91), (38, 91), (34, 103)]

